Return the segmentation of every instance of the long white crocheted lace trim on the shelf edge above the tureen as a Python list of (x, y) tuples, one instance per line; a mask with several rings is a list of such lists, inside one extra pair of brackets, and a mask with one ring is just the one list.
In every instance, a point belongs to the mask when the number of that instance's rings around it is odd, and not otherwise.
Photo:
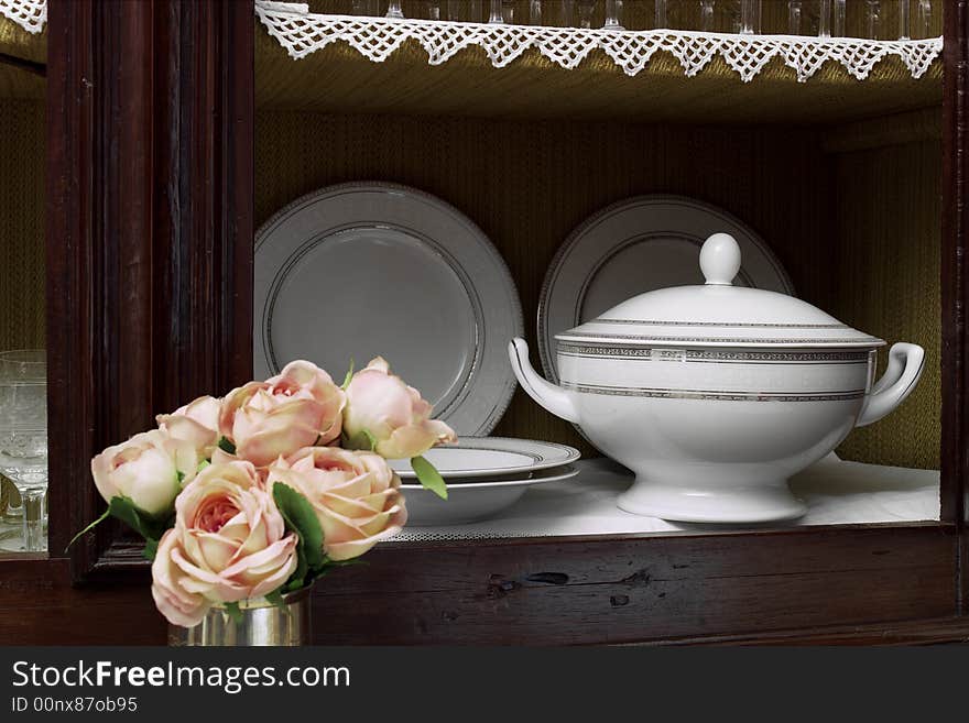
[(864, 80), (874, 65), (899, 56), (913, 78), (919, 78), (943, 50), (943, 39), (871, 41), (856, 37), (818, 39), (794, 35), (737, 35), (679, 30), (607, 31), (426, 20), (393, 20), (309, 13), (305, 4), (257, 0), (255, 12), (270, 35), (295, 58), (344, 41), (361, 55), (382, 63), (405, 41), (415, 40), (431, 65), (446, 63), (459, 51), (478, 45), (501, 68), (536, 47), (563, 68), (579, 65), (596, 48), (605, 51), (627, 75), (634, 76), (657, 51), (672, 53), (692, 77), (719, 54), (749, 83), (774, 57), (805, 81), (827, 61), (840, 63)]

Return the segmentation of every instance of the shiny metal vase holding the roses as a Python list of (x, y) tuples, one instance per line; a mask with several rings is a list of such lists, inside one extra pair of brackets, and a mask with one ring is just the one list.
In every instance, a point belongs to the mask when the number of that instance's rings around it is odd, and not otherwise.
[(283, 595), (282, 606), (264, 599), (239, 603), (242, 618), (232, 620), (225, 607), (213, 607), (195, 627), (168, 625), (168, 645), (252, 646), (311, 644), (312, 588)]

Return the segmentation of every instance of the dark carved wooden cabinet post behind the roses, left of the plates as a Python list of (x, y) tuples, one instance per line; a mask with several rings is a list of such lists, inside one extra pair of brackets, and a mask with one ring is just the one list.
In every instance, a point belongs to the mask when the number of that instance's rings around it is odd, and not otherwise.
[[(104, 508), (89, 460), (251, 370), (251, 8), (52, 0), (51, 551)], [(76, 579), (129, 568), (102, 525)]]

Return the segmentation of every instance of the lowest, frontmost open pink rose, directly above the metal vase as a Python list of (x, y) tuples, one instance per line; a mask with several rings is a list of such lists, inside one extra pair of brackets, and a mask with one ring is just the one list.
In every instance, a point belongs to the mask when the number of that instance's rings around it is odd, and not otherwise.
[(171, 623), (190, 627), (213, 604), (261, 598), (296, 568), (296, 534), (250, 462), (205, 468), (175, 512), (152, 563), (152, 596)]

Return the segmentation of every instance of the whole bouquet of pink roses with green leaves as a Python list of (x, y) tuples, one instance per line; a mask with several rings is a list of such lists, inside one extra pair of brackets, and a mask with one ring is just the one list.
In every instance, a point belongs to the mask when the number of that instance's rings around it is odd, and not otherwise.
[(342, 386), (294, 361), (157, 423), (91, 460), (108, 510), (78, 537), (108, 516), (142, 535), (155, 604), (185, 627), (213, 605), (279, 604), (400, 532), (407, 513), (386, 460), (410, 458), (446, 497), (422, 454), (456, 440), (380, 358)]

